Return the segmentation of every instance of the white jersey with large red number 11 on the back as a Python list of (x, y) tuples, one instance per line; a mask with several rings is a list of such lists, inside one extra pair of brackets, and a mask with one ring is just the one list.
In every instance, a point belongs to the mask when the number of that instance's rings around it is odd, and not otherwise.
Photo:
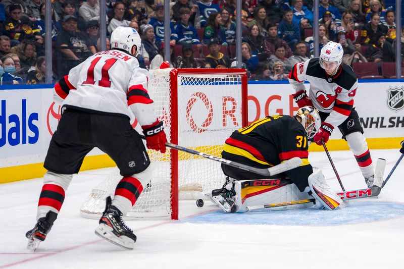
[(90, 56), (55, 84), (61, 105), (130, 117), (140, 125), (156, 122), (153, 100), (147, 93), (148, 71), (124, 51), (111, 49)]

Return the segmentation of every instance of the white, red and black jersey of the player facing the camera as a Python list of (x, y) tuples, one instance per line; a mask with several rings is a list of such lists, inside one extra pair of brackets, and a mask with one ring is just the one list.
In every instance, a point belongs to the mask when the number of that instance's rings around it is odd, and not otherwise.
[(296, 90), (305, 90), (304, 82), (310, 82), (309, 98), (321, 112), (330, 113), (326, 122), (336, 127), (342, 124), (354, 107), (358, 78), (346, 64), (341, 64), (334, 76), (329, 76), (313, 58), (294, 65), (289, 83)]

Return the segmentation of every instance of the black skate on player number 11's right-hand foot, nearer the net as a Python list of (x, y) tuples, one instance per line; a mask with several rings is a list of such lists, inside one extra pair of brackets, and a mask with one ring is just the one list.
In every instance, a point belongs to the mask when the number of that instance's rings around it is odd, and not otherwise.
[(107, 197), (105, 211), (99, 219), (95, 234), (126, 249), (133, 249), (133, 244), (136, 242), (136, 236), (122, 220), (122, 212), (111, 205), (110, 196)]

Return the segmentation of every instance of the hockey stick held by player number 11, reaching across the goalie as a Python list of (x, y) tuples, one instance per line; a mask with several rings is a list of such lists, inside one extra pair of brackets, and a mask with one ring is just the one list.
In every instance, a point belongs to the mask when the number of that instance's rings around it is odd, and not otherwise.
[[(143, 135), (140, 135), (140, 137), (142, 139), (146, 139)], [(219, 163), (227, 165), (227, 166), (232, 166), (232, 167), (244, 170), (244, 171), (260, 174), (260, 175), (267, 176), (267, 177), (273, 176), (273, 175), (278, 175), (285, 171), (299, 167), (302, 164), (301, 159), (299, 157), (293, 157), (291, 159), (288, 159), (286, 162), (283, 162), (282, 164), (276, 165), (271, 168), (255, 168), (255, 167), (246, 166), (246, 165), (243, 165), (243, 164), (240, 164), (237, 162), (233, 162), (232, 160), (220, 158), (220, 157), (210, 155), (210, 154), (207, 154), (204, 152), (199, 152), (199, 151), (196, 151), (196, 150), (193, 150), (190, 148), (172, 144), (169, 142), (166, 142), (166, 146), (176, 149), (176, 150), (181, 150), (181, 151), (187, 152), (189, 154), (198, 155), (198, 156), (201, 156), (201, 157), (204, 157), (207, 159), (215, 160), (216, 162), (219, 162)]]

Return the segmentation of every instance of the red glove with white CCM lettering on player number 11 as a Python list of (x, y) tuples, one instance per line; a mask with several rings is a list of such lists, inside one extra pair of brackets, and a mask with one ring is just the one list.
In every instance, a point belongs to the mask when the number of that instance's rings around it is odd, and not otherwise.
[(166, 152), (167, 137), (164, 132), (163, 122), (157, 120), (153, 124), (142, 126), (142, 129), (146, 137), (147, 148), (160, 151), (161, 153)]

